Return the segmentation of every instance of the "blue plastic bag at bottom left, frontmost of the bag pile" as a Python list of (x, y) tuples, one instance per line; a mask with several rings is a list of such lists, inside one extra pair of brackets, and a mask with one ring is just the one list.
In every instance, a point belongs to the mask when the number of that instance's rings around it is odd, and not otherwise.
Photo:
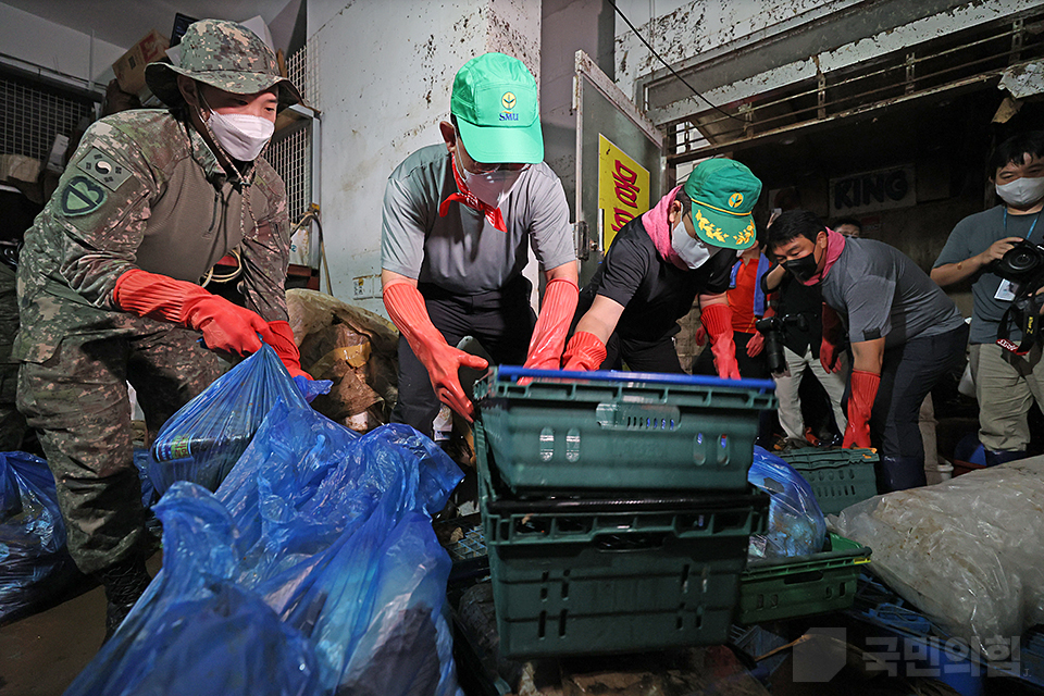
[(163, 570), (66, 696), (319, 693), (304, 636), (236, 585), (236, 533), (224, 506), (181, 482), (154, 510)]

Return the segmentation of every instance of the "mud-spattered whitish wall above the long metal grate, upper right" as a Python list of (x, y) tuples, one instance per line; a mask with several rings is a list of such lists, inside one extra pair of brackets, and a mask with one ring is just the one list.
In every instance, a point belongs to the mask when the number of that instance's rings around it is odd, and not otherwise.
[[(639, 0), (630, 0), (630, 3), (634, 10), (634, 15), (629, 15), (632, 24), (672, 65), (682, 61), (699, 63), (706, 55), (720, 52), (726, 45), (735, 45), (735, 52), (724, 66), (708, 70), (711, 77), (705, 78), (699, 73), (688, 77), (689, 83), (695, 84), (701, 95), (716, 104), (732, 103), (781, 86), (812, 79), (819, 71), (830, 73), (1041, 4), (1040, 0), (934, 0), (933, 7), (940, 11), (924, 10), (924, 16), (907, 22), (896, 17), (917, 12), (910, 10), (905, 0), (672, 0), (669, 3), (655, 3), (656, 16), (651, 21), (646, 3)], [(621, 10), (624, 4), (620, 3)], [(866, 5), (868, 12), (871, 9), (877, 12), (871, 25), (860, 24), (860, 5)], [(673, 9), (668, 10), (668, 7)], [(890, 24), (890, 17), (899, 23)], [(870, 30), (873, 24), (881, 26)], [(859, 33), (860, 29), (867, 32)], [(757, 53), (761, 46), (753, 39), (778, 39), (809, 30), (853, 38), (838, 40), (830, 50), (816, 51), (815, 55), (808, 51), (791, 55), (775, 54), (769, 64), (762, 65), (763, 70), (749, 69), (758, 63)], [(801, 41), (794, 42), (795, 50), (801, 45)], [(776, 47), (773, 50), (780, 49)], [(617, 84), (627, 95), (635, 92), (641, 78), (654, 71), (664, 71), (662, 63), (652, 57), (622, 21), (617, 22), (616, 61)], [(691, 96), (687, 89), (678, 87), (672, 94), (679, 99), (676, 107), (663, 107), (661, 98), (650, 104), (649, 116), (654, 122), (669, 121), (707, 109), (706, 103)]]

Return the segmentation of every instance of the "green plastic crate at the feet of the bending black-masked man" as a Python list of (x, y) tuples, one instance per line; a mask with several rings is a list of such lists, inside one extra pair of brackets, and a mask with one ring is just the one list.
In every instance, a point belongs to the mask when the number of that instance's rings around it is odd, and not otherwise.
[(872, 449), (805, 447), (780, 457), (809, 483), (823, 514), (837, 514), (878, 495), (878, 453)]

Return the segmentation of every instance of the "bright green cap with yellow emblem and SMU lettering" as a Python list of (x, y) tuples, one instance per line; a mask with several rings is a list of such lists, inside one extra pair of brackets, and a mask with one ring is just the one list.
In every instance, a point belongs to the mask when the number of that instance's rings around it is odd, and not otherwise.
[(476, 162), (544, 160), (536, 80), (519, 59), (485, 53), (464, 63), (453, 79), (449, 112)]

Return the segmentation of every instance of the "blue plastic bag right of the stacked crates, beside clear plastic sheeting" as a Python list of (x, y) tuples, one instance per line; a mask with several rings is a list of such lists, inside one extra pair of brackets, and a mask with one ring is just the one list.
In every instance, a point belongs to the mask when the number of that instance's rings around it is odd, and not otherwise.
[(808, 482), (788, 463), (754, 448), (747, 481), (771, 496), (769, 530), (750, 536), (749, 558), (786, 558), (823, 550), (826, 521)]

